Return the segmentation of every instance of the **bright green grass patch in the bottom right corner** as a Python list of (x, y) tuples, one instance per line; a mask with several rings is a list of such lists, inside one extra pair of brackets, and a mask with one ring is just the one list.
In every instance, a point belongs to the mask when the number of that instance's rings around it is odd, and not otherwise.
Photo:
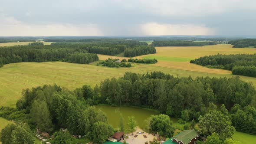
[(233, 139), (236, 141), (240, 141), (241, 144), (255, 144), (256, 136), (251, 134), (246, 134), (242, 132), (236, 131), (233, 135)]

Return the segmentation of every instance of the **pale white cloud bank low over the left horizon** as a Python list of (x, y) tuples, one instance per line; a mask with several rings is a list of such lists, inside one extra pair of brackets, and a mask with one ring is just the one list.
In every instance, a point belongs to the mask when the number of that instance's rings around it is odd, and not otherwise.
[(0, 36), (102, 36), (95, 24), (29, 24), (0, 16)]

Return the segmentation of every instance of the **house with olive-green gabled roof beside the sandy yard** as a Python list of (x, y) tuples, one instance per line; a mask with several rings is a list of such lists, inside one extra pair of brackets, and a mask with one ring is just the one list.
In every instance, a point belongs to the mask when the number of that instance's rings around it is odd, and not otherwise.
[(199, 134), (195, 130), (181, 131), (180, 134), (175, 135), (163, 144), (195, 144), (198, 140)]

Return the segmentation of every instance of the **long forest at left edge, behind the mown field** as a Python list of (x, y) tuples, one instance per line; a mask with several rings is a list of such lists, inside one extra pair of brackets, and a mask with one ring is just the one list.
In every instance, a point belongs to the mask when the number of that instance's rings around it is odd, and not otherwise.
[(13, 46), (0, 48), (0, 67), (16, 62), (49, 62), (68, 58), (84, 49), (52, 48), (51, 46)]

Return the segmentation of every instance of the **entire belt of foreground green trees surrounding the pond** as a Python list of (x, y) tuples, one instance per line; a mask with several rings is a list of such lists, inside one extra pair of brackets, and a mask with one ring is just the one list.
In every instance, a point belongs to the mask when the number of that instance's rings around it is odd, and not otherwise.
[[(69, 91), (58, 85), (44, 85), (25, 89), (22, 95), (16, 102), (16, 108), (1, 107), (0, 117), (22, 121), (31, 129), (38, 127), (41, 131), (54, 133), (56, 137), (53, 142), (65, 136), (67, 141), (75, 143), (70, 134), (76, 134), (86, 135), (95, 143), (102, 143), (118, 131), (107, 123), (102, 111), (92, 106), (97, 104), (131, 105), (158, 110), (166, 115), (151, 116), (148, 121), (151, 130), (166, 137), (174, 133), (167, 115), (184, 121), (192, 120), (190, 126), (186, 125), (190, 128), (194, 128), (193, 121), (199, 122), (198, 132), (209, 139), (217, 133), (220, 141), (226, 141), (232, 137), (235, 128), (237, 131), (256, 134), (256, 90), (251, 83), (243, 82), (239, 77), (192, 79), (162, 72), (126, 72), (123, 77), (105, 79), (94, 88), (84, 85)], [(221, 106), (218, 108), (216, 105)], [(130, 119), (134, 121), (133, 117)], [(161, 127), (163, 124), (165, 127)], [(128, 122), (128, 125), (134, 127), (136, 123)], [(12, 127), (10, 125), (7, 129)], [(30, 130), (22, 125), (18, 127), (29, 136)], [(68, 131), (59, 131), (60, 128)], [(97, 133), (99, 130), (102, 132)]]

